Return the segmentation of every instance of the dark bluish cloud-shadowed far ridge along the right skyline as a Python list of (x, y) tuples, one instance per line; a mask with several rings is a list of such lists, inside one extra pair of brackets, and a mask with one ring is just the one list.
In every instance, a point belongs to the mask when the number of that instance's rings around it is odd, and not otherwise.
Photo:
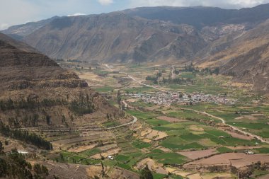
[(219, 24), (261, 23), (269, 18), (269, 4), (253, 8), (222, 9), (214, 7), (141, 7), (122, 11), (130, 16), (157, 19), (176, 24), (193, 25), (195, 28)]

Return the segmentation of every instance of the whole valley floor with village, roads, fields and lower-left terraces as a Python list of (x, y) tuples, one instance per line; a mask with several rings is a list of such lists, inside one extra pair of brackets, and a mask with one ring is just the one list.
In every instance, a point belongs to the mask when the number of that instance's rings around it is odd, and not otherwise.
[[(154, 178), (268, 175), (268, 100), (248, 84), (239, 87), (229, 76), (184, 71), (180, 64), (72, 65), (91, 88), (134, 118), (123, 125), (98, 124), (105, 130), (43, 131), (54, 149), (40, 157), (52, 171), (84, 168), (92, 178), (120, 178), (115, 175), (120, 170), (139, 178), (147, 165)], [(146, 80), (159, 72), (157, 83)], [(163, 83), (169, 78), (181, 80)], [(162, 95), (162, 102), (154, 103)]]

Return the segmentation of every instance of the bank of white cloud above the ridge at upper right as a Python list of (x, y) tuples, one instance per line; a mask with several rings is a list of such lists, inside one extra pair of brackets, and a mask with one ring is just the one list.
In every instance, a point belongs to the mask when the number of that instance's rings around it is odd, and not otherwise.
[(269, 3), (269, 0), (130, 0), (137, 6), (214, 6), (221, 8), (243, 8)]

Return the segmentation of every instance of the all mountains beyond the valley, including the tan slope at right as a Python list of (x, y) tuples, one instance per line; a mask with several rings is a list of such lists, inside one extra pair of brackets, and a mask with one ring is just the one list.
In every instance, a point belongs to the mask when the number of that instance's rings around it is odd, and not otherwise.
[(268, 18), (269, 4), (240, 10), (160, 6), (55, 17), (3, 32), (20, 35), (53, 59), (194, 61), (268, 91)]

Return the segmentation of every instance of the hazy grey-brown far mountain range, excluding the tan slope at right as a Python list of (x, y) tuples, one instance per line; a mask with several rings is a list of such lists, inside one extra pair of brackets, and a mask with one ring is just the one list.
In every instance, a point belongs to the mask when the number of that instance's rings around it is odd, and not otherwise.
[(265, 21), (269, 18), (268, 6), (239, 10), (142, 7), (101, 15), (54, 17), (3, 32), (25, 32), (20, 34), (25, 42), (53, 59), (185, 62), (207, 54), (204, 47), (215, 40), (244, 33)]

